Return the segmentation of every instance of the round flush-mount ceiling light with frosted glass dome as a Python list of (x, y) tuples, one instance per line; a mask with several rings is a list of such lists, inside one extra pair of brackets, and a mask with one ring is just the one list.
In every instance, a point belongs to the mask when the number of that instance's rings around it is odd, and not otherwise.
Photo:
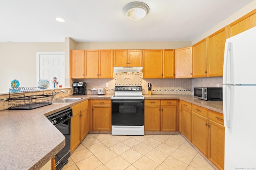
[(123, 8), (124, 15), (133, 21), (141, 20), (148, 12), (149, 6), (143, 2), (130, 2)]

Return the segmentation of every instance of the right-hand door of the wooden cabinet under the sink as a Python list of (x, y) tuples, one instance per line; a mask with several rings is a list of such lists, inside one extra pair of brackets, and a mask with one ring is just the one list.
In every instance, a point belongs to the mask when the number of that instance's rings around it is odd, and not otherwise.
[(80, 111), (80, 127), (80, 137), (82, 141), (88, 133), (88, 107)]

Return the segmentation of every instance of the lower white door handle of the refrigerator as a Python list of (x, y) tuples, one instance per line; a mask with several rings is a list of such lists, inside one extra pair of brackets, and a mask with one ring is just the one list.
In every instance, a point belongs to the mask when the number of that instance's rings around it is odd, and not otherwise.
[(230, 127), (230, 85), (223, 85), (223, 116), (224, 116), (224, 126)]

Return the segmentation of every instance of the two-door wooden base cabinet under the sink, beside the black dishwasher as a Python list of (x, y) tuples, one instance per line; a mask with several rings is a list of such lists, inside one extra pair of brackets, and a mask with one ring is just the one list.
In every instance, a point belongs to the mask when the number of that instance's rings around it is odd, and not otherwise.
[(88, 134), (88, 100), (72, 106), (73, 117), (71, 118), (71, 153)]

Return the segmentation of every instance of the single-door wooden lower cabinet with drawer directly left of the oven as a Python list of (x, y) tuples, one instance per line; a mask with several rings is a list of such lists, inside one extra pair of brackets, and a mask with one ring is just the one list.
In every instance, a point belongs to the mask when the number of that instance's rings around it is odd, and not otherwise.
[(92, 130), (111, 131), (111, 100), (92, 100)]

